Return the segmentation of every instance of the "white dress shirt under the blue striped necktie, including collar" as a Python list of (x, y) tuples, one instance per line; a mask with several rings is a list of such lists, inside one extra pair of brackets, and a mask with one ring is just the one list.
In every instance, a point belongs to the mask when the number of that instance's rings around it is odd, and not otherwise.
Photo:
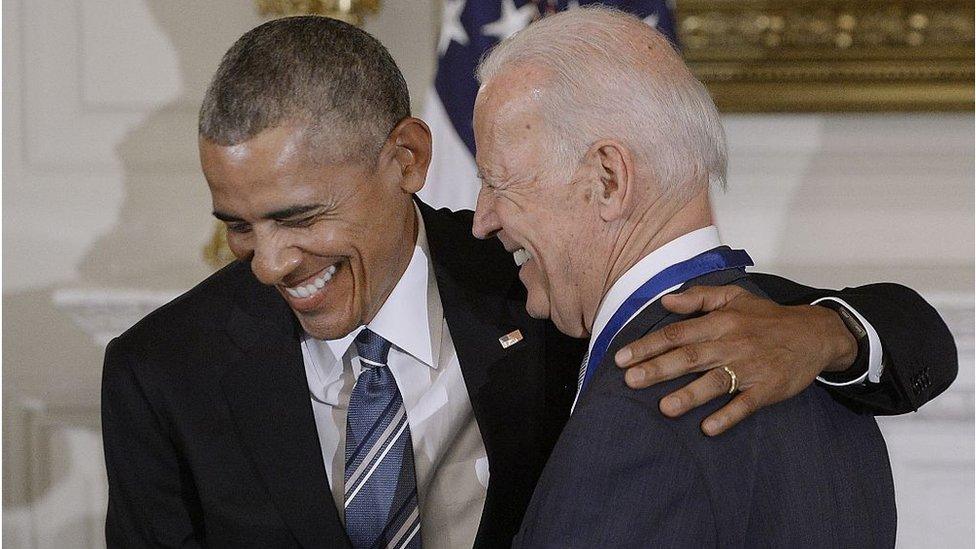
[[(427, 548), (471, 547), (488, 487), (488, 457), (441, 307), (423, 219), (410, 264), (369, 329), (393, 345), (387, 363), (413, 440), (421, 535)], [(325, 291), (329, 291), (328, 288)], [(322, 458), (343, 522), (346, 414), (362, 367), (353, 340), (305, 334), (302, 357)]]

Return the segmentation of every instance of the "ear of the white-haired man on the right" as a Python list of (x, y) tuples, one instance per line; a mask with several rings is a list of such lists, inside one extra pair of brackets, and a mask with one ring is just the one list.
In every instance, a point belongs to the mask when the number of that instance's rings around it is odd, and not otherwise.
[(627, 217), (636, 190), (630, 149), (618, 141), (602, 139), (586, 152), (586, 162), (598, 180), (593, 196), (600, 208), (600, 218), (609, 222)]

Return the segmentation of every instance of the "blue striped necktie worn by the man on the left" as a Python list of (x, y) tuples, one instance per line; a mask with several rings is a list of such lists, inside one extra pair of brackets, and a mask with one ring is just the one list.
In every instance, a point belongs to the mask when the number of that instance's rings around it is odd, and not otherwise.
[(356, 336), (363, 371), (346, 420), (346, 532), (353, 547), (420, 549), (413, 442), (403, 398), (386, 365), (390, 342)]

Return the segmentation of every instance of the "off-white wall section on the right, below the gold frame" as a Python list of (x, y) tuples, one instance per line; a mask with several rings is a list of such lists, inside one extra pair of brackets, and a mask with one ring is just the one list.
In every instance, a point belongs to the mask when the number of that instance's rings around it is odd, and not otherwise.
[(907, 284), (956, 336), (959, 377), (917, 414), (881, 418), (899, 547), (973, 545), (971, 114), (726, 117), (727, 242), (760, 270), (824, 287)]

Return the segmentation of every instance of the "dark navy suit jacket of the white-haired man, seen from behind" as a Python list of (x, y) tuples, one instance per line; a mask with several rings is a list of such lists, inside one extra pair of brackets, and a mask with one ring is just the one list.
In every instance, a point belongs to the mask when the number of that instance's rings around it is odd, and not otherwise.
[[(740, 270), (695, 284), (759, 289)], [(615, 338), (553, 450), (517, 547), (891, 547), (895, 496), (874, 418), (814, 385), (705, 437), (731, 397), (678, 419), (660, 399), (691, 381), (642, 391), (611, 364), (625, 343), (682, 317), (660, 302)]]

